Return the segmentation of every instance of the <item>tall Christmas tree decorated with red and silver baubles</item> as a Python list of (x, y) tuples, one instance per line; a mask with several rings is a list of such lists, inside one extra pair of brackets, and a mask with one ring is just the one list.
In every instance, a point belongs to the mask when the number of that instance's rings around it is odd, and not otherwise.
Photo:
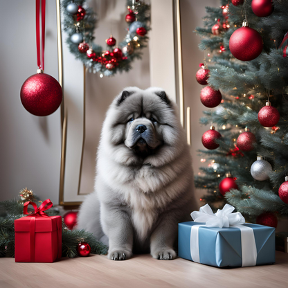
[[(214, 210), (231, 204), (246, 220), (277, 226), (288, 216), (288, 1), (221, 1), (206, 8), (196, 78), (208, 84), (195, 186)], [(286, 179), (285, 179), (286, 177)]]

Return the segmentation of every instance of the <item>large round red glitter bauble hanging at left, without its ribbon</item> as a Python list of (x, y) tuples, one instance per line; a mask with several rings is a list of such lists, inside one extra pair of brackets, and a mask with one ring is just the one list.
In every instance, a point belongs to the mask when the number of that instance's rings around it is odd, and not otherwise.
[(35, 116), (48, 116), (60, 106), (62, 88), (51, 75), (39, 71), (24, 82), (20, 96), (22, 105), (28, 112)]

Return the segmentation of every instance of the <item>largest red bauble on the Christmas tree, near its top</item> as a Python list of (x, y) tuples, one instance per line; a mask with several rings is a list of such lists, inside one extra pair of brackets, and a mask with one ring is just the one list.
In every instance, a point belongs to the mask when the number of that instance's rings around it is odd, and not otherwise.
[(229, 48), (232, 55), (238, 60), (251, 61), (262, 52), (262, 37), (260, 33), (250, 28), (244, 20), (243, 27), (235, 30), (231, 35)]

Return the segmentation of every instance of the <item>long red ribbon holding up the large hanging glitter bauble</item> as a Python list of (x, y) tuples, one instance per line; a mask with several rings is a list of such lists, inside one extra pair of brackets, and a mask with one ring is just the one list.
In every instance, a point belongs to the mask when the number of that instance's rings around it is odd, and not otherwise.
[[(41, 2), (41, 12), (40, 12)], [(37, 47), (37, 66), (44, 71), (44, 50), (45, 50), (45, 11), (46, 0), (36, 0), (36, 47)], [(42, 22), (42, 46), (40, 47), (40, 14)], [(42, 57), (41, 57), (42, 54)], [(41, 63), (42, 58), (42, 63)]]

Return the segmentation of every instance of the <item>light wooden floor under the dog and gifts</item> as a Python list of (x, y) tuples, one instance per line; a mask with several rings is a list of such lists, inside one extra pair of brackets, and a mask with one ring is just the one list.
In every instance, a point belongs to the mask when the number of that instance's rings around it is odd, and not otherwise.
[(288, 287), (288, 253), (276, 264), (219, 269), (177, 258), (155, 260), (136, 255), (125, 261), (104, 255), (62, 258), (55, 263), (15, 263), (0, 258), (0, 287)]

